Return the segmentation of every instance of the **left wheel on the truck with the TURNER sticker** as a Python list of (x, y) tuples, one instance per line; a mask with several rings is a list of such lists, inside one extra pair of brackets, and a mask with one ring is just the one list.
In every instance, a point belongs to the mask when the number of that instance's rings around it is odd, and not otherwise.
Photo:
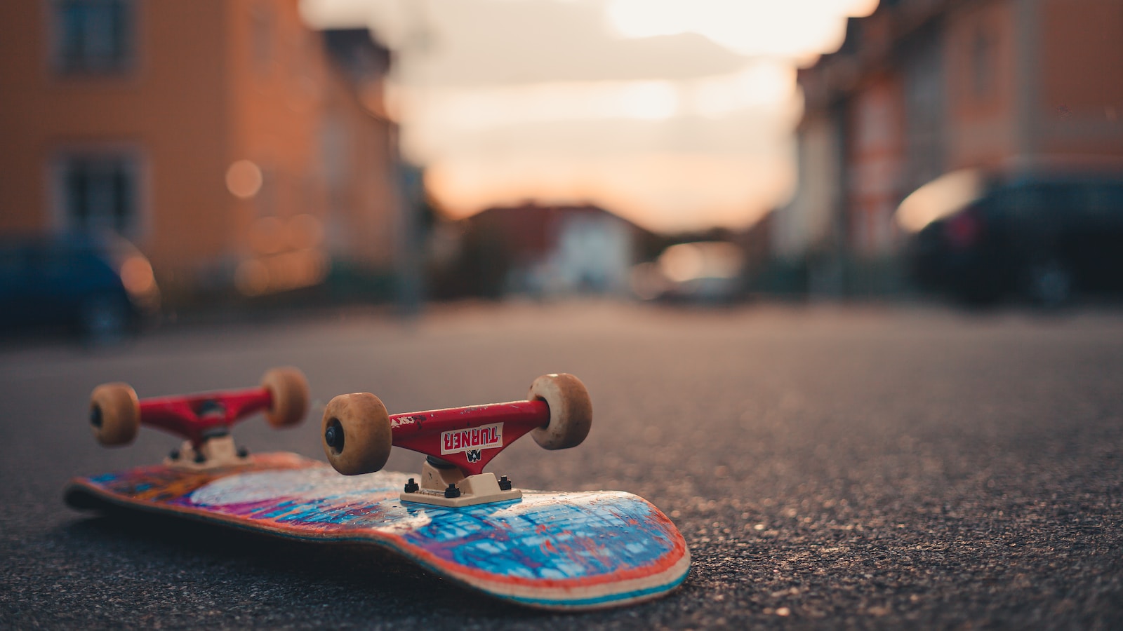
[(328, 461), (344, 475), (374, 473), (390, 458), (390, 414), (368, 392), (332, 399), (323, 410), (320, 431)]

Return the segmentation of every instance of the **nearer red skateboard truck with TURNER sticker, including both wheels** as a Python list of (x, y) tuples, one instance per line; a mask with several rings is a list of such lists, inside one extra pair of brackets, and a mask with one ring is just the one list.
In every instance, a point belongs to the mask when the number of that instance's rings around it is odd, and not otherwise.
[(527, 401), (390, 414), (377, 396), (341, 394), (323, 411), (323, 452), (345, 475), (373, 473), (392, 446), (428, 456), (421, 483), (410, 478), (403, 502), (464, 506), (514, 500), (522, 493), (503, 476), (483, 473), (500, 451), (526, 433), (546, 449), (581, 445), (593, 422), (593, 404), (581, 379), (542, 375)]

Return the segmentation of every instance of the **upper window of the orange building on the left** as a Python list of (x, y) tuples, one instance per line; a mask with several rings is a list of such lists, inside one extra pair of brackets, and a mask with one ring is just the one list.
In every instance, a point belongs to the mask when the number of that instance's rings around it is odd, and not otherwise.
[(56, 0), (55, 63), (65, 74), (128, 70), (136, 47), (133, 0)]

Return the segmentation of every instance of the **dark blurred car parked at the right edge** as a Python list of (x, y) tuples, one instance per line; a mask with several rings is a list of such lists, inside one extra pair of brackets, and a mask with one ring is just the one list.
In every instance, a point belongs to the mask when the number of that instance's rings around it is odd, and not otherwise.
[(992, 180), (982, 196), (921, 229), (910, 254), (922, 286), (973, 304), (1121, 293), (1123, 179)]

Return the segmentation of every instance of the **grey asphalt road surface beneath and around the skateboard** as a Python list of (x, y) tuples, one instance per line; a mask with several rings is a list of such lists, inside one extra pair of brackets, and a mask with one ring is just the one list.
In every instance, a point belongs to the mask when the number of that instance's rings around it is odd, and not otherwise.
[[(67, 509), (67, 478), (157, 461), (98, 447), (90, 390), (141, 396), (308, 375), (312, 422), (236, 431), (322, 458), (335, 394), (392, 411), (588, 386), (576, 449), (523, 440), (491, 469), (614, 488), (673, 518), (686, 583), (564, 615), (463, 591), (393, 557)], [(179, 326), (118, 349), (0, 348), (0, 628), (1123, 628), (1123, 313), (659, 311), (599, 303)], [(416, 470), (395, 450), (387, 468)]]

